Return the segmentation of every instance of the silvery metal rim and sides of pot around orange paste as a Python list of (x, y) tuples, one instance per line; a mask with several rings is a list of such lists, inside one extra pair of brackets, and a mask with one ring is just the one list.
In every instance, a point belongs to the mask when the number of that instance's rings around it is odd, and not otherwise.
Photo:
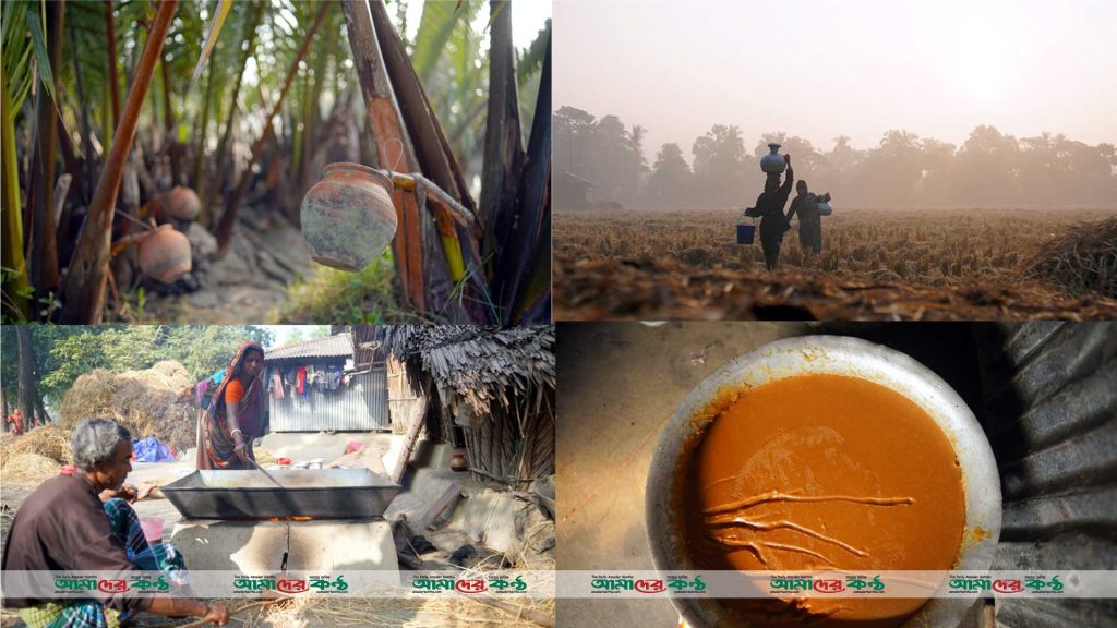
[[(648, 472), (646, 526), (656, 569), (697, 570), (686, 552), (681, 516), (684, 483), (693, 439), (714, 419), (719, 393), (804, 374), (850, 375), (891, 389), (926, 411), (946, 435), (962, 468), (965, 530), (957, 570), (987, 570), (1001, 533), (1001, 482), (985, 434), (961, 397), (938, 375), (886, 346), (842, 336), (800, 336), (761, 346), (722, 365), (682, 400), (668, 422)], [(739, 619), (715, 599), (672, 598), (691, 628), (713, 628)], [(956, 626), (973, 600), (932, 598), (904, 624)]]

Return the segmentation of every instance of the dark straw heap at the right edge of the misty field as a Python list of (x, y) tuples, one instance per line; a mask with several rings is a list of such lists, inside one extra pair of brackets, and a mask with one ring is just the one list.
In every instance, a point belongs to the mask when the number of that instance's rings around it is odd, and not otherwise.
[(1076, 296), (1117, 298), (1117, 218), (1072, 227), (1044, 245), (1024, 274)]

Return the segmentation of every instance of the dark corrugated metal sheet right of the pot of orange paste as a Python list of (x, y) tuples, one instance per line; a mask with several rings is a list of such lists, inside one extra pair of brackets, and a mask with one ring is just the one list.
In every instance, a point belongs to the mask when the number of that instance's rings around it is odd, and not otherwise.
[[(993, 569), (1117, 569), (1117, 324), (974, 325), (1004, 494)], [(999, 627), (1114, 626), (1117, 600), (996, 601)]]

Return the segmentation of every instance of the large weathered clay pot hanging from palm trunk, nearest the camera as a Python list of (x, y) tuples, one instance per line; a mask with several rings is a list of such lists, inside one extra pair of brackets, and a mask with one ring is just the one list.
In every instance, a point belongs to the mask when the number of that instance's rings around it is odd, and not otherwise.
[(318, 264), (360, 270), (395, 237), (392, 180), (360, 163), (331, 163), (303, 198), (303, 237)]

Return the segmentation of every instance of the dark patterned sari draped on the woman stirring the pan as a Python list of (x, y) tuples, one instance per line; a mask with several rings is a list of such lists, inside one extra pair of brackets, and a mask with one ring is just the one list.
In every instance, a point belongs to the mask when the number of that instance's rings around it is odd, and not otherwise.
[[(254, 349), (259, 351), (260, 355), (264, 354), (264, 348), (258, 342), (246, 342), (240, 345), (237, 354), (232, 358), (232, 362), (229, 363), (229, 368), (226, 370), (225, 378), (213, 393), (213, 400), (210, 401), (209, 408), (202, 415), (199, 435), (201, 443), (198, 447), (197, 462), (197, 468), (199, 469), (250, 468), (233, 453), (236, 443), (232, 439), (232, 428), (229, 427), (226, 389), (228, 389), (229, 383), (233, 380), (240, 380), (244, 374), (245, 354)], [(237, 415), (240, 427), (245, 432), (245, 443), (248, 444), (245, 453), (254, 460), (256, 458), (252, 456), (251, 441), (252, 438), (260, 436), (259, 434), (254, 434), (254, 428), (259, 429), (259, 426), (264, 425), (264, 394), (260, 392), (264, 390), (262, 374), (264, 369), (260, 369), (260, 372), (248, 384), (245, 398), (238, 405)]]

